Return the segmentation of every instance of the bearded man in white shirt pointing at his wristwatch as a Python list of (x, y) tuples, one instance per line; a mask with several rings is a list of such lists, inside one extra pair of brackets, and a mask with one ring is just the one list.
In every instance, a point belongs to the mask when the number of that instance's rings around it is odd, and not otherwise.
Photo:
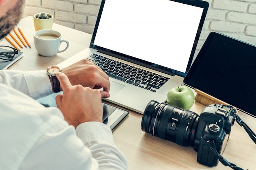
[[(23, 3), (0, 0), (0, 38), (19, 21)], [(46, 108), (34, 100), (53, 92), (46, 71), (0, 71), (0, 169), (127, 169), (102, 123), (108, 76), (88, 60), (56, 76), (63, 95), (56, 96), (57, 108)]]

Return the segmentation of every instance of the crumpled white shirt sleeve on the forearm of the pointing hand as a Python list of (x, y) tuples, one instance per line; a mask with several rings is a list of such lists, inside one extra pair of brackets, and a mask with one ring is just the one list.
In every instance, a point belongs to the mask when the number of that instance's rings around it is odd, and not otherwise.
[(92, 152), (99, 170), (127, 170), (124, 154), (114, 143), (111, 129), (103, 123), (86, 122), (76, 127), (77, 136)]

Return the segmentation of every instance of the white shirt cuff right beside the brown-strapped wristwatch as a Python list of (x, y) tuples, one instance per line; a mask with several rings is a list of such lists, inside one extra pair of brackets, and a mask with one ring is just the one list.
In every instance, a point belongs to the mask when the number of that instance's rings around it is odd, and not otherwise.
[(27, 82), (30, 97), (39, 99), (52, 94), (52, 85), (46, 70), (25, 71), (23, 73)]

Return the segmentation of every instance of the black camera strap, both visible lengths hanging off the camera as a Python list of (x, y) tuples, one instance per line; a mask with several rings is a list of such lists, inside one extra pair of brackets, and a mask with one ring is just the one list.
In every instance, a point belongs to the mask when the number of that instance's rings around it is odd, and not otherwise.
[[(256, 134), (252, 131), (251, 128), (249, 128), (249, 126), (247, 126), (247, 124), (238, 116), (236, 115), (236, 122), (240, 125), (243, 126), (243, 128), (245, 129), (245, 131), (248, 133), (249, 137), (252, 139), (252, 141), (254, 141), (254, 143), (256, 144)], [(236, 166), (234, 163), (230, 163), (229, 161), (227, 161), (225, 158), (223, 158), (220, 153), (217, 151), (216, 145), (214, 143), (214, 141), (209, 141), (209, 146), (211, 148), (211, 150), (214, 152), (214, 154), (219, 158), (220, 162), (225, 165), (225, 166), (229, 166), (230, 168), (234, 169), (234, 170), (243, 170), (242, 168), (239, 168), (238, 166)]]

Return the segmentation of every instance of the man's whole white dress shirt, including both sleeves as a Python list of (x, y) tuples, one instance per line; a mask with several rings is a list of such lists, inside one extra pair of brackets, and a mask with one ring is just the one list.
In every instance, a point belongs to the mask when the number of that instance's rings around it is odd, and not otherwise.
[(75, 129), (34, 100), (51, 93), (46, 71), (0, 71), (0, 170), (128, 169), (107, 125)]

